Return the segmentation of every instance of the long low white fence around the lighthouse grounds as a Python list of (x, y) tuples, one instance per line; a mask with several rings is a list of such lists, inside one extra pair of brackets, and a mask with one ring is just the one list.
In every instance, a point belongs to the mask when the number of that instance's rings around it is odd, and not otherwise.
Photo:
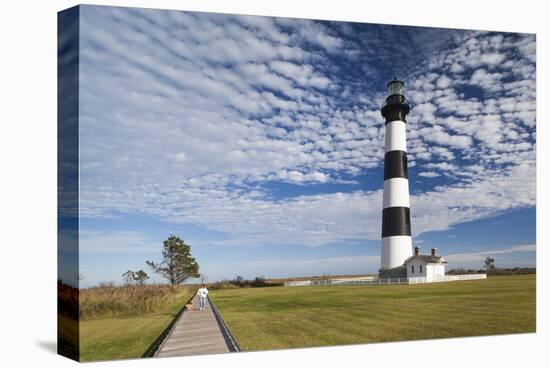
[(439, 282), (454, 282), (457, 280), (486, 279), (487, 274), (465, 274), (465, 275), (444, 275), (434, 278), (376, 278), (376, 279), (323, 279), (323, 280), (300, 280), (285, 282), (287, 287), (318, 286), (318, 285), (385, 285), (385, 284), (424, 284)]

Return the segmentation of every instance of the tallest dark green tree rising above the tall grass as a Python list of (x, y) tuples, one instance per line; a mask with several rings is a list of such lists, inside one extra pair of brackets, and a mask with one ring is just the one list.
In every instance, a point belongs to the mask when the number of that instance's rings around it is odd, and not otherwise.
[(191, 257), (191, 246), (174, 235), (163, 241), (163, 245), (162, 262), (146, 261), (156, 273), (168, 279), (170, 284), (181, 284), (189, 278), (200, 277), (199, 264)]

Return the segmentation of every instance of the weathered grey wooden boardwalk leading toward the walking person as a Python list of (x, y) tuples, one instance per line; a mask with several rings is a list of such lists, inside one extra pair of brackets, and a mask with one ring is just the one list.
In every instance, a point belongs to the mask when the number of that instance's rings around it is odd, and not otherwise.
[(183, 312), (155, 353), (156, 357), (218, 354), (234, 351), (222, 320), (216, 318), (209, 299), (199, 310), (199, 297), (193, 298), (193, 308)]

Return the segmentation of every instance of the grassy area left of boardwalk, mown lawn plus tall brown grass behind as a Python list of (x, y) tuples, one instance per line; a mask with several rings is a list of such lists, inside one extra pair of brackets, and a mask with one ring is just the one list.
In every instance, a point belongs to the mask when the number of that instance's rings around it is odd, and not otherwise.
[[(196, 290), (181, 286), (171, 290), (166, 288), (171, 286), (147, 287), (95, 288), (84, 297), (81, 295), (81, 313), (84, 313), (80, 322), (81, 361), (141, 357)], [(138, 308), (141, 311), (136, 314), (135, 309), (128, 307), (132, 304), (141, 304)]]

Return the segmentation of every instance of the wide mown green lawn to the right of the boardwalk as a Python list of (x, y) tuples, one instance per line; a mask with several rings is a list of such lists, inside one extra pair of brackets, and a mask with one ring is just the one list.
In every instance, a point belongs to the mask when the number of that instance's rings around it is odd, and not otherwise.
[(534, 332), (535, 276), (210, 292), (243, 350)]

